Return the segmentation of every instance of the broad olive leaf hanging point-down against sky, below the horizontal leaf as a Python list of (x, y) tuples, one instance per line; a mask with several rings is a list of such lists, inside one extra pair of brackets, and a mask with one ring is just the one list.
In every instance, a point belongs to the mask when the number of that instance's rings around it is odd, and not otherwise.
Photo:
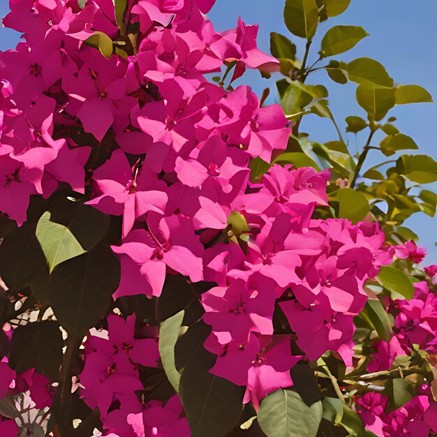
[(376, 84), (360, 84), (357, 102), (367, 112), (369, 120), (380, 121), (394, 107), (394, 89)]

